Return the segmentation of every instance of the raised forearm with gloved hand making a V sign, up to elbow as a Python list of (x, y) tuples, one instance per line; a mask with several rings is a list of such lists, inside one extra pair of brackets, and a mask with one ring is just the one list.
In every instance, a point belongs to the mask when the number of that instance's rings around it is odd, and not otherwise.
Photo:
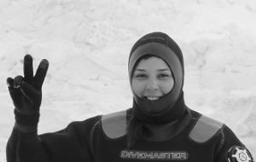
[(49, 67), (42, 60), (33, 76), (32, 56), (24, 57), (24, 77), (7, 78), (9, 94), (15, 105), (15, 126), (7, 143), (8, 162), (48, 162), (49, 157), (38, 137), (42, 85)]

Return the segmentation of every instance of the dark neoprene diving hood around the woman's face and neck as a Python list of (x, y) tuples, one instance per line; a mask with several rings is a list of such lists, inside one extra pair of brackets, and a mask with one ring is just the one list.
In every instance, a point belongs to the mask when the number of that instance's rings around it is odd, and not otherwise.
[[(177, 43), (163, 32), (152, 32), (140, 38), (131, 49), (129, 57), (130, 83), (137, 63), (147, 55), (166, 61), (172, 70), (174, 86), (156, 101), (148, 101), (133, 92), (133, 114), (136, 119), (147, 123), (165, 123), (183, 117), (186, 107), (183, 102), (183, 54)], [(132, 88), (131, 88), (132, 90)]]

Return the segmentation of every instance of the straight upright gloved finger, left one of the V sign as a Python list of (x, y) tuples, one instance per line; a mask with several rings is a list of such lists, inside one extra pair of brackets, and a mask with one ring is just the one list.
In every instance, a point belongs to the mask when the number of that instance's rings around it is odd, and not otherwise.
[(33, 64), (32, 64), (32, 56), (31, 55), (25, 55), (24, 57), (24, 66), (23, 66), (23, 72), (24, 72), (24, 80), (29, 81), (33, 78)]

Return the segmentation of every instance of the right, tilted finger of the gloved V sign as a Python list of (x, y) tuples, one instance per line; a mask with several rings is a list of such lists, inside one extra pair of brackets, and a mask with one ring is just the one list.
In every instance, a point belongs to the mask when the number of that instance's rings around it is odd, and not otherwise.
[(35, 78), (34, 78), (36, 88), (38, 90), (40, 90), (42, 88), (48, 67), (49, 67), (49, 62), (46, 59), (43, 59), (39, 64), (38, 70), (37, 70)]

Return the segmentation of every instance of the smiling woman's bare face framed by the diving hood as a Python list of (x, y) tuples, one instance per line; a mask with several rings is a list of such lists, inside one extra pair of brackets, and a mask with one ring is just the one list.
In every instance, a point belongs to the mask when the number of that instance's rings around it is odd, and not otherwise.
[(140, 98), (158, 100), (172, 90), (174, 79), (166, 62), (158, 57), (143, 59), (137, 64), (132, 78), (131, 89)]

